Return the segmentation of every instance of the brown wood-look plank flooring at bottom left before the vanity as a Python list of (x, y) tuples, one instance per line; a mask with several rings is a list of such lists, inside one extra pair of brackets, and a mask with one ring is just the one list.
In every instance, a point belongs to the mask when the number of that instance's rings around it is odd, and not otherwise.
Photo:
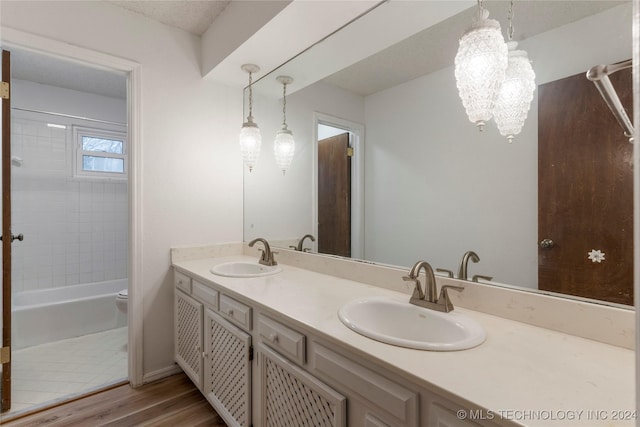
[(227, 426), (183, 373), (136, 389), (124, 384), (0, 424), (6, 427)]

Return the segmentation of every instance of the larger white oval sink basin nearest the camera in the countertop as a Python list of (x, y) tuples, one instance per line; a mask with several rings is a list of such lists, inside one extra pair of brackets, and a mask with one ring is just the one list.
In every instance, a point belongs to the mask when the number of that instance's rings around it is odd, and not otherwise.
[(418, 350), (466, 350), (487, 337), (477, 321), (462, 313), (442, 313), (384, 297), (353, 300), (338, 316), (348, 328), (368, 338)]

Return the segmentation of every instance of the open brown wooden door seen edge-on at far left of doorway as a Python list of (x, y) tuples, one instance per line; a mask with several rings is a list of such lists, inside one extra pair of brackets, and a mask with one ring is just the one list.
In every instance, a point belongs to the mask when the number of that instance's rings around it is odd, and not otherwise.
[[(11, 55), (2, 51), (3, 86), (11, 85)], [(4, 89), (4, 88), (3, 88)], [(1, 411), (11, 409), (11, 104), (9, 88), (2, 95), (2, 380)], [(6, 95), (6, 97), (5, 97)]]

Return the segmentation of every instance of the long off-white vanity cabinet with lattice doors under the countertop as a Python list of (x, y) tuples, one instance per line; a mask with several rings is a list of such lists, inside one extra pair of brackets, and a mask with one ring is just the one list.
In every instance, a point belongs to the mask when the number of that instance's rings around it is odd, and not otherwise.
[[(483, 418), (490, 414), (434, 393), (249, 297), (177, 270), (175, 277), (176, 361), (230, 426), (509, 424)], [(197, 348), (202, 351), (195, 357)]]

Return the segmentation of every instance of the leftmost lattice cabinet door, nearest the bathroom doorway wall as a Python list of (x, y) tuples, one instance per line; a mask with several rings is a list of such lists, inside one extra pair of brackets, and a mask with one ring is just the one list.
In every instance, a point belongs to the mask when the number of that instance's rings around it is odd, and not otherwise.
[(202, 312), (198, 301), (175, 290), (175, 361), (191, 381), (202, 386)]

